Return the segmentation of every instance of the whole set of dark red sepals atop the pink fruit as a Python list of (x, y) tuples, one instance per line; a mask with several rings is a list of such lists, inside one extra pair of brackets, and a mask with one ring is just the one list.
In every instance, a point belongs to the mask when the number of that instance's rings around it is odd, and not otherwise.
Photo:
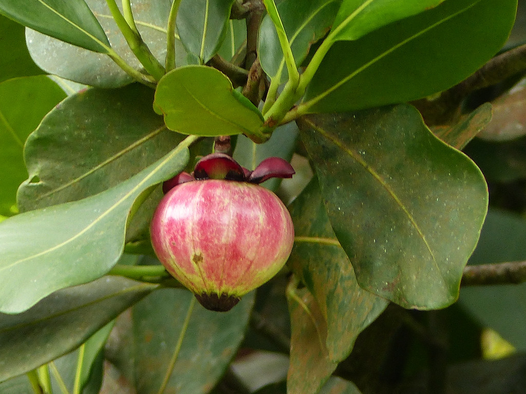
[(278, 157), (267, 158), (250, 171), (227, 154), (211, 153), (197, 162), (192, 174), (181, 172), (164, 182), (163, 192), (166, 194), (174, 186), (195, 180), (224, 179), (259, 184), (270, 178), (292, 178), (295, 173), (288, 161)]

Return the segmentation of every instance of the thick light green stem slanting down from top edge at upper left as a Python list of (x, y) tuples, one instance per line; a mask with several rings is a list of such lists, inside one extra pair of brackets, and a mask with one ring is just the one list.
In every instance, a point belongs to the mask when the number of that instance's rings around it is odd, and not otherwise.
[(134, 32), (133, 29), (128, 25), (124, 16), (120, 13), (119, 7), (115, 0), (106, 0), (109, 11), (112, 13), (112, 16), (117, 24), (120, 32), (122, 32), (128, 46), (131, 51), (144, 66), (146, 71), (149, 72), (155, 80), (161, 79), (165, 74), (165, 69), (163, 65), (159, 63), (159, 60), (151, 53), (148, 46), (144, 43), (143, 39), (140, 37), (140, 34)]

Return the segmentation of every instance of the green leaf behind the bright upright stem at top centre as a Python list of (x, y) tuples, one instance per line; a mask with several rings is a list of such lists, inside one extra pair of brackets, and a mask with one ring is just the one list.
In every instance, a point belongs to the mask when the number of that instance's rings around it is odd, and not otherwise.
[[(341, 0), (287, 0), (278, 5), (296, 66), (305, 60), (310, 45), (330, 29)], [(267, 15), (259, 28), (258, 55), (261, 67), (270, 78), (285, 82), (287, 68), (274, 23)]]

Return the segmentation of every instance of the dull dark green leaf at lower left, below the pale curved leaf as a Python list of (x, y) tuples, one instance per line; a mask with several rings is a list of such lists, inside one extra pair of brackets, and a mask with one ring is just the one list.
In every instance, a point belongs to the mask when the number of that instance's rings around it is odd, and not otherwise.
[(62, 289), (18, 315), (0, 318), (0, 381), (77, 348), (156, 285), (108, 276)]

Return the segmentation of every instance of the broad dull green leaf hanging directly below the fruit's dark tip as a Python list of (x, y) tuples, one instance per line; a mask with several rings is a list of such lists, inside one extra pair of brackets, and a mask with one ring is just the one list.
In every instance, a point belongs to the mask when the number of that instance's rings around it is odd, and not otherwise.
[(137, 392), (157, 393), (163, 382), (165, 392), (209, 392), (236, 354), (253, 303), (251, 293), (227, 313), (210, 312), (186, 290), (161, 289), (134, 306)]

